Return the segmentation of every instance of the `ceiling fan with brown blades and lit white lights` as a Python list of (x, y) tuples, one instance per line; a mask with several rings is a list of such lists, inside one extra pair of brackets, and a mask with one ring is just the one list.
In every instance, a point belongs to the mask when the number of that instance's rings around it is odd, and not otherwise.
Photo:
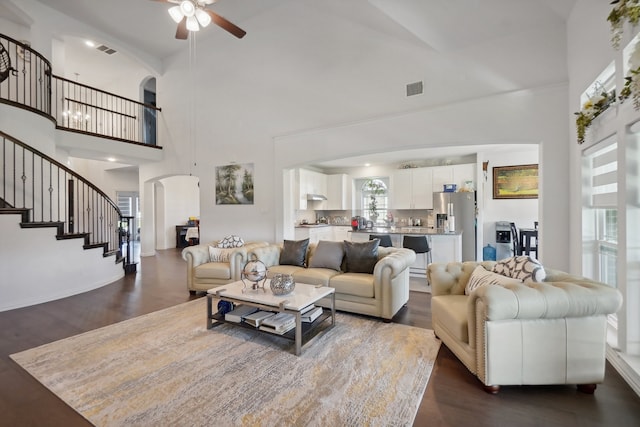
[(198, 31), (213, 21), (217, 26), (227, 30), (237, 38), (244, 37), (246, 31), (237, 25), (227, 21), (207, 6), (217, 0), (152, 0), (161, 3), (173, 3), (176, 6), (169, 8), (169, 15), (178, 24), (176, 38), (186, 40), (189, 31)]

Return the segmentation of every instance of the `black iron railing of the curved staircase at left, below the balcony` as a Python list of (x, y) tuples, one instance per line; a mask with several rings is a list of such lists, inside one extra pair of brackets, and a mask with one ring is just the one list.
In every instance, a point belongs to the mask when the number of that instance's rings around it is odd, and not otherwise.
[(85, 248), (102, 247), (104, 256), (131, 268), (134, 226), (98, 187), (65, 165), (0, 131), (0, 211), (22, 214), (21, 226), (56, 227), (58, 239), (84, 238)]

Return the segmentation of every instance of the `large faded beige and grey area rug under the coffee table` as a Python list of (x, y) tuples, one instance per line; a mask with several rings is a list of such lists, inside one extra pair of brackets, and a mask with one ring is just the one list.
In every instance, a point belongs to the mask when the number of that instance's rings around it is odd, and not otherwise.
[(295, 356), (280, 337), (207, 330), (205, 313), (201, 298), (11, 358), (97, 426), (407, 426), (440, 346), (338, 313)]

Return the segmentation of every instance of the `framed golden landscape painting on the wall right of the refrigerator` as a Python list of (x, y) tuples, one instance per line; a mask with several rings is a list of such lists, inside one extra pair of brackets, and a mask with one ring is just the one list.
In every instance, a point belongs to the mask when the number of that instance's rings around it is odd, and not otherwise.
[(494, 199), (537, 199), (538, 165), (493, 168)]

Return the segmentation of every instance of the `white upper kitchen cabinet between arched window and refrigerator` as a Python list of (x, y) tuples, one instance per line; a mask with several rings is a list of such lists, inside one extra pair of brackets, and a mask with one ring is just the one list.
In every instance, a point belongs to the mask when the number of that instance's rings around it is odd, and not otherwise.
[(432, 168), (400, 169), (391, 175), (392, 209), (433, 209)]

